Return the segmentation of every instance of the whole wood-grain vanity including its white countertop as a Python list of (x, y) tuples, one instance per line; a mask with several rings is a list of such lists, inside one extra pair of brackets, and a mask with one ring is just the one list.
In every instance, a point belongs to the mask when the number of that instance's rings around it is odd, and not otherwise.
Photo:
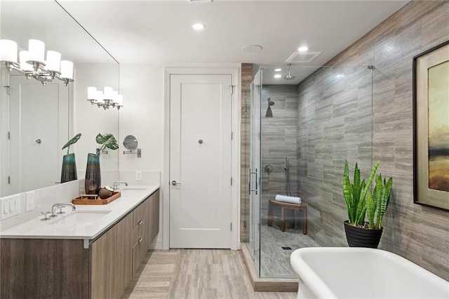
[(159, 186), (130, 186), (0, 234), (0, 298), (121, 298), (159, 233)]

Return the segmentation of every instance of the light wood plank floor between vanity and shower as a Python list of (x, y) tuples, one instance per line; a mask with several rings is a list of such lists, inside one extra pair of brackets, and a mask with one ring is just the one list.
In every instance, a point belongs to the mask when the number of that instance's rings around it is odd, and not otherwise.
[(254, 292), (239, 251), (171, 249), (147, 253), (124, 298), (296, 298)]

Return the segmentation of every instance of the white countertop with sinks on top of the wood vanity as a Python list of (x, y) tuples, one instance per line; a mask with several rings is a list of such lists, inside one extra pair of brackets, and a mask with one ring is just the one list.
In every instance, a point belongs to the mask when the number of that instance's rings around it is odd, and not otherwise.
[[(116, 224), (126, 214), (136, 208), (149, 195), (156, 192), (159, 186), (128, 186), (119, 190), (121, 197), (104, 205), (76, 205), (76, 211), (65, 206), (65, 214), (59, 215), (55, 219), (41, 221), (43, 215), (23, 222), (20, 225), (0, 232), (1, 238), (15, 239), (83, 239), (92, 240), (112, 225)], [(100, 215), (98, 219), (86, 225), (70, 225), (61, 221), (76, 212), (91, 212)], [(86, 215), (87, 215), (86, 213)], [(101, 215), (105, 213), (105, 215)], [(58, 223), (55, 223), (58, 222)]]

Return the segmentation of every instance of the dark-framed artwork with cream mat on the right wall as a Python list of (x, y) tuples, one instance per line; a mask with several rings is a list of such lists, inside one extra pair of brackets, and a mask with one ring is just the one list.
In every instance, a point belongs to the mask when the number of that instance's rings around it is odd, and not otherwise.
[(449, 210), (449, 41), (413, 58), (415, 204)]

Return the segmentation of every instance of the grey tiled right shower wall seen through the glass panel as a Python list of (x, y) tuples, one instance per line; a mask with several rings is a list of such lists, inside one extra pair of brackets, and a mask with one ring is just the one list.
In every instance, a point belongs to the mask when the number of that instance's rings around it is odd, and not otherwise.
[(297, 87), (298, 189), (307, 233), (321, 246), (347, 246), (342, 221), (344, 159), (363, 177), (372, 165), (371, 69), (321, 67)]

